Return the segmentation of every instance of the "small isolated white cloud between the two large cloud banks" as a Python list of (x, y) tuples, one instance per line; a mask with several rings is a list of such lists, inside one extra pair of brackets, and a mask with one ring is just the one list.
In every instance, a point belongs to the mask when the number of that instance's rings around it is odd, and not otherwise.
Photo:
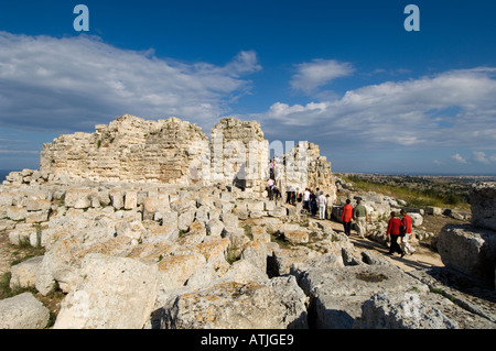
[(311, 63), (296, 65), (296, 74), (290, 84), (293, 89), (310, 94), (336, 78), (351, 75), (354, 70), (349, 63), (314, 59)]

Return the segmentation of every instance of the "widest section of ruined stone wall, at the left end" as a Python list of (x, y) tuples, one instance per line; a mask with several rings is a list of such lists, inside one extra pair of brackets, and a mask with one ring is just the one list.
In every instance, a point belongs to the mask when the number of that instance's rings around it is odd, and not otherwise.
[(44, 144), (40, 171), (98, 182), (191, 184), (197, 178), (190, 166), (208, 152), (207, 142), (196, 124), (125, 114), (96, 125), (95, 133), (61, 135)]

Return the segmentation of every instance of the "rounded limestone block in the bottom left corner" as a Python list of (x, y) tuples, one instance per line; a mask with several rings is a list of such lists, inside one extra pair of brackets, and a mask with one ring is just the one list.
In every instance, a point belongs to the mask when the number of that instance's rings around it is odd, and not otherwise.
[(50, 310), (31, 293), (0, 300), (0, 329), (43, 329)]

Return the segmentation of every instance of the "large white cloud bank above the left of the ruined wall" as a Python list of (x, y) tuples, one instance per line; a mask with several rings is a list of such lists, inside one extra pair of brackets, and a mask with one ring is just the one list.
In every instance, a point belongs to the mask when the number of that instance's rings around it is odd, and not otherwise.
[(225, 66), (184, 64), (96, 36), (0, 32), (0, 125), (82, 130), (125, 113), (209, 124), (250, 88), (241, 77), (259, 69), (255, 52)]

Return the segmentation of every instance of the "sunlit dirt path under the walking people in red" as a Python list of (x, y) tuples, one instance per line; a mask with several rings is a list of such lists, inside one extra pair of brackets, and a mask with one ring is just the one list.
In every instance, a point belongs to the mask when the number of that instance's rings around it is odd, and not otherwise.
[[(319, 222), (321, 226), (325, 228), (331, 228), (336, 232), (343, 232), (343, 224), (330, 221), (330, 220), (317, 220), (310, 219), (310, 221)], [(416, 252), (412, 255), (405, 255), (402, 259), (398, 255), (388, 255), (389, 249), (381, 245), (378, 242), (371, 241), (367, 238), (362, 239), (356, 234), (355, 231), (352, 230), (352, 235), (349, 240), (353, 242), (356, 249), (360, 251), (371, 250), (387, 260), (391, 261), (393, 264), (399, 266), (405, 272), (420, 270), (420, 268), (429, 268), (433, 266), (442, 267), (444, 264), (441, 261), (441, 257), (438, 253), (433, 252), (429, 248), (423, 246), (422, 244), (413, 244), (413, 249)]]

